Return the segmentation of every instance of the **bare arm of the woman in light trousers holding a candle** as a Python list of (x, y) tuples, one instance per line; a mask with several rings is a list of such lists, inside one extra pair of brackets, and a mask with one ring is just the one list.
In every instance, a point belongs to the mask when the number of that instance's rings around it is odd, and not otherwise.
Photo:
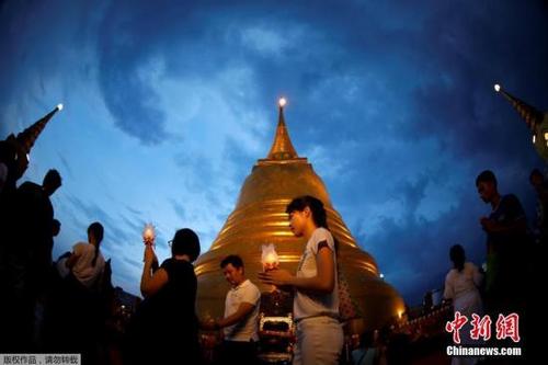
[(273, 270), (266, 273), (259, 273), (259, 277), (264, 284), (276, 286), (293, 286), (300, 290), (310, 290), (318, 294), (329, 294), (333, 292), (335, 285), (335, 264), (333, 251), (327, 242), (318, 244), (316, 254), (317, 274), (312, 277), (297, 277), (286, 270)]

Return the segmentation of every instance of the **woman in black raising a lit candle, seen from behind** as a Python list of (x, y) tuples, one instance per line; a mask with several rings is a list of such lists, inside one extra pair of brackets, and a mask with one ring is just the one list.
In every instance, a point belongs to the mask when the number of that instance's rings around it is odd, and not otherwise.
[(144, 233), (145, 265), (140, 290), (145, 300), (128, 328), (125, 347), (129, 364), (199, 364), (198, 320), (195, 313), (197, 280), (193, 262), (199, 239), (189, 228), (169, 241), (171, 258), (160, 267), (153, 235)]

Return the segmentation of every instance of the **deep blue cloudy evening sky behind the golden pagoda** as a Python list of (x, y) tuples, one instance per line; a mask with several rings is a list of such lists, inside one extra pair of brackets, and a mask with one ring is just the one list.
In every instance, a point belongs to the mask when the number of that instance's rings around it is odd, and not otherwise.
[(208, 250), (281, 95), (297, 152), (410, 305), (442, 287), (452, 244), (484, 261), (479, 172), (534, 218), (545, 164), (493, 83), (548, 110), (546, 1), (0, 1), (0, 138), (65, 104), (20, 180), (64, 178), (54, 256), (100, 220), (134, 294), (142, 225), (160, 261), (181, 227)]

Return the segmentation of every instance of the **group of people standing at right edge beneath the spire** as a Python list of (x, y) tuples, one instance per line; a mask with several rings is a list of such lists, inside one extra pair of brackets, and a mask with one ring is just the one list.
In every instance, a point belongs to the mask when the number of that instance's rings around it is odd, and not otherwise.
[[(466, 316), (469, 321), (460, 331), (461, 345), (486, 345), (482, 338), (470, 337), (472, 315), (483, 315), (494, 322), (500, 316), (518, 316), (518, 345), (526, 356), (533, 358), (538, 351), (539, 333), (535, 328), (541, 317), (540, 303), (534, 298), (536, 288), (543, 286), (541, 262), (546, 253), (548, 235), (548, 184), (544, 174), (534, 169), (529, 183), (537, 194), (537, 217), (529, 227), (525, 210), (514, 194), (501, 194), (495, 174), (486, 170), (476, 179), (480, 198), (491, 206), (489, 216), (480, 217), (479, 223), (486, 232), (486, 264), (478, 267), (466, 260), (460, 244), (450, 248), (449, 258), (453, 269), (445, 278), (444, 298), (450, 300), (455, 312)], [(496, 346), (515, 346), (515, 343), (499, 341), (495, 337), (489, 342)], [(511, 360), (507, 360), (512, 363)], [(489, 360), (480, 357), (455, 356), (452, 364), (477, 364)], [(504, 363), (504, 360), (496, 360)]]

